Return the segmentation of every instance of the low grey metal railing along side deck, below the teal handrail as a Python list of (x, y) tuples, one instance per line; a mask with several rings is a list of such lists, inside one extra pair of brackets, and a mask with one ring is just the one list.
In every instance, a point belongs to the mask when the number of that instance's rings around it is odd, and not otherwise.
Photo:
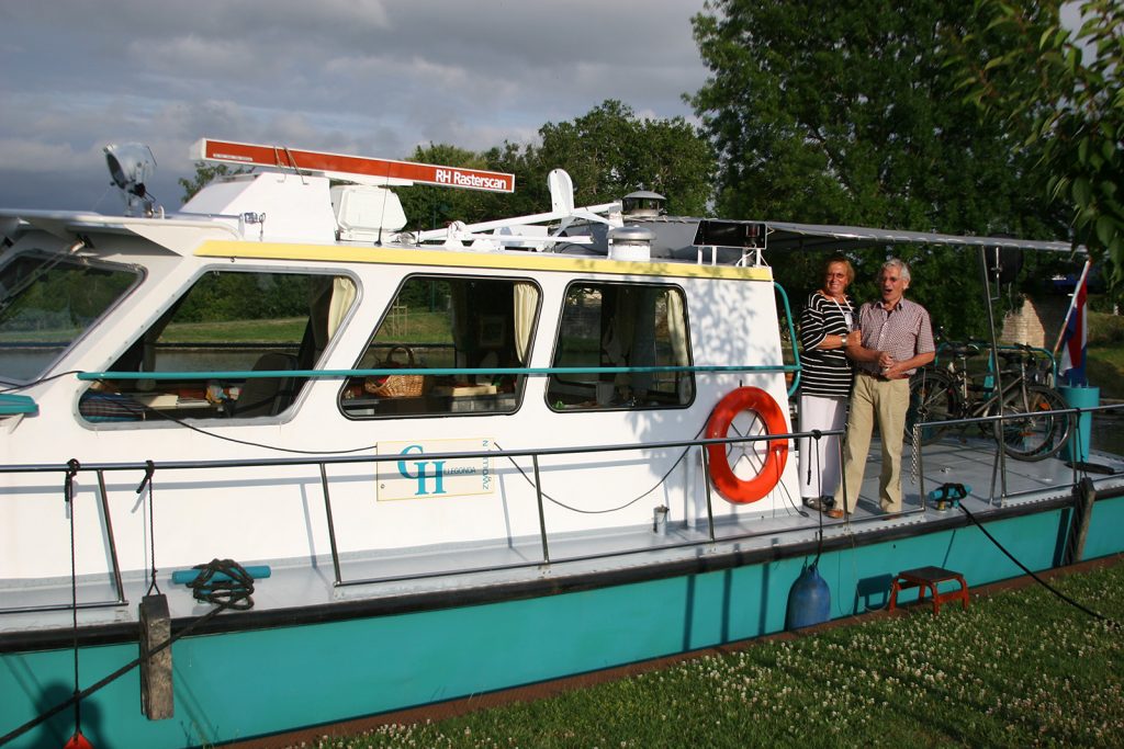
[[(463, 576), (479, 573), (496, 573), (510, 569), (519, 568), (536, 568), (543, 566), (550, 566), (552, 564), (559, 563), (579, 563), (589, 561), (595, 559), (608, 558), (608, 557), (622, 557), (642, 552), (651, 552), (653, 550), (673, 550), (680, 548), (691, 548), (691, 547), (705, 547), (708, 545), (714, 545), (716, 542), (733, 542), (738, 540), (745, 540), (762, 536), (776, 536), (779, 533), (795, 532), (807, 530), (804, 524), (794, 524), (786, 528), (770, 528), (770, 529), (756, 529), (756, 530), (744, 530), (738, 528), (732, 533), (723, 533), (720, 537), (717, 532), (718, 523), (715, 520), (714, 512), (714, 497), (711, 493), (710, 482), (704, 479), (705, 485), (705, 500), (706, 500), (706, 526), (705, 530), (698, 532), (696, 538), (682, 538), (681, 540), (661, 540), (659, 544), (653, 545), (646, 542), (638, 546), (627, 546), (624, 548), (593, 551), (579, 555), (569, 555), (563, 558), (555, 558), (551, 554), (551, 533), (547, 529), (546, 512), (544, 505), (544, 492), (542, 486), (542, 481), (540, 477), (540, 462), (543, 458), (559, 457), (559, 456), (573, 456), (582, 454), (607, 454), (607, 453), (623, 453), (623, 451), (634, 451), (634, 450), (665, 450), (674, 448), (683, 448), (685, 453), (679, 459), (686, 457), (687, 453), (692, 449), (698, 449), (701, 456), (703, 469), (707, 469), (707, 450), (705, 449), (708, 445), (732, 445), (732, 444), (743, 444), (743, 442), (758, 442), (758, 441), (777, 441), (783, 440), (788, 441), (791, 439), (799, 439), (804, 437), (808, 438), (822, 438), (828, 436), (841, 436), (842, 430), (823, 430), (818, 432), (788, 432), (788, 433), (763, 433), (763, 435), (744, 435), (734, 437), (723, 437), (723, 438), (700, 438), (696, 437), (692, 439), (685, 440), (671, 440), (671, 441), (659, 441), (659, 442), (641, 442), (641, 444), (618, 444), (618, 445), (590, 445), (590, 446), (577, 446), (577, 447), (541, 447), (541, 448), (525, 448), (525, 449), (495, 449), (495, 450), (473, 450), (473, 451), (456, 451), (456, 453), (427, 453), (426, 458), (430, 460), (463, 460), (463, 459), (497, 459), (506, 458), (511, 460), (511, 464), (516, 472), (524, 473), (523, 468), (514, 462), (514, 458), (531, 458), (531, 473), (533, 474), (533, 485), (535, 492), (535, 502), (537, 504), (538, 512), (538, 544), (541, 546), (541, 558), (528, 558), (522, 559), (519, 561), (514, 561), (510, 564), (499, 564), (489, 566), (474, 566), (474, 567), (454, 567), (444, 568), (426, 572), (417, 572), (411, 574), (397, 574), (388, 575), (382, 577), (362, 577), (362, 578), (351, 578), (345, 576), (344, 563), (342, 560), (342, 555), (338, 548), (336, 539), (336, 522), (333, 514), (333, 497), (332, 497), (332, 481), (328, 477), (328, 467), (338, 465), (354, 465), (363, 463), (384, 463), (384, 462), (398, 462), (401, 460), (400, 455), (333, 455), (333, 456), (301, 456), (301, 457), (277, 457), (277, 458), (233, 458), (233, 459), (210, 459), (210, 460), (169, 460), (169, 462), (121, 462), (121, 463), (90, 463), (90, 464), (79, 464), (76, 460), (71, 460), (66, 464), (34, 464), (34, 465), (10, 465), (0, 466), (0, 474), (58, 474), (64, 476), (66, 482), (74, 478), (75, 476), (83, 473), (93, 473), (97, 477), (98, 486), (98, 502), (99, 502), (99, 514), (105, 523), (103, 533), (108, 539), (108, 548), (106, 549), (107, 556), (110, 561), (111, 569), (109, 570), (112, 576), (112, 587), (115, 591), (115, 596), (103, 601), (96, 602), (82, 602), (79, 604), (80, 609), (98, 609), (107, 606), (118, 606), (126, 605), (128, 603), (125, 594), (125, 585), (123, 582), (121, 566), (118, 559), (117, 551), (117, 540), (114, 532), (112, 526), (112, 513), (110, 511), (109, 504), (109, 492), (106, 484), (106, 475), (109, 473), (121, 473), (121, 472), (145, 472), (146, 481), (153, 475), (167, 472), (167, 471), (215, 471), (224, 469), (229, 471), (232, 468), (256, 468), (256, 467), (287, 467), (287, 466), (316, 466), (319, 472), (320, 487), (323, 492), (324, 500), (324, 513), (326, 520), (326, 528), (328, 535), (328, 546), (330, 549), (332, 566), (334, 581), (333, 585), (336, 587), (345, 586), (357, 586), (357, 585), (372, 585), (379, 583), (398, 583), (413, 579), (424, 579), (424, 578), (435, 578), (435, 577), (450, 577), (450, 576)], [(678, 463), (678, 460), (677, 460)], [(526, 475), (526, 474), (524, 474)], [(143, 487), (143, 484), (142, 484)], [(138, 493), (140, 490), (137, 490)], [(688, 529), (689, 531), (689, 529)], [(685, 536), (689, 536), (689, 532), (685, 532)], [(0, 575), (2, 576), (2, 575)], [(71, 603), (57, 603), (47, 605), (31, 605), (24, 608), (0, 608), (0, 613), (17, 613), (17, 612), (31, 612), (31, 611), (54, 611), (54, 610), (69, 610)]]

